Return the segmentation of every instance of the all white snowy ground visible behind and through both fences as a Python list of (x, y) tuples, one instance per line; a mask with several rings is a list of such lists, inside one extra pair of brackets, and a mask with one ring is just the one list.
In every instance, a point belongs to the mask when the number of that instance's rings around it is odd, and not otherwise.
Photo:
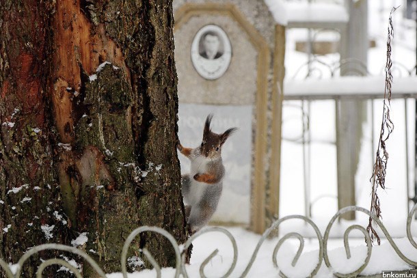
[[(377, 42), (377, 47), (370, 48), (368, 51), (368, 70), (371, 74), (382, 74), (386, 61), (386, 28), (388, 27), (388, 13), (392, 6), (403, 4), (403, 1), (379, 1), (368, 0), (369, 3), (369, 28), (370, 36)], [(380, 10), (384, 10), (380, 13)], [(409, 27), (409, 22), (401, 18), (402, 11), (399, 10), (394, 15), (394, 43), (393, 59), (405, 66), (407, 69), (413, 68), (416, 63), (416, 33), (415, 25)], [(297, 72), (299, 67), (306, 62), (307, 56), (304, 53), (298, 53), (295, 49), (295, 39), (304, 36), (302, 31), (288, 31), (287, 33), (287, 53), (286, 53), (286, 79), (302, 79), (305, 72)], [(338, 61), (338, 55), (325, 55), (319, 57), (327, 63)], [(397, 72), (398, 74), (398, 72)], [(394, 87), (395, 89), (395, 79)], [(284, 138), (295, 138), (301, 135), (301, 113), (299, 102), (285, 102), (283, 109), (283, 126), (282, 132)], [(414, 169), (414, 100), (408, 100), (409, 121), (409, 169)], [(368, 103), (368, 111), (371, 103)], [(382, 104), (376, 100), (375, 107), (375, 130), (374, 135), (379, 133), (378, 126), (381, 115)], [(388, 152), (390, 158), (388, 161), (388, 176), (386, 191), (380, 191), (381, 209), (383, 212), (383, 222), (388, 232), (396, 238), (396, 243), (407, 258), (417, 260), (416, 249), (408, 242), (405, 237), (405, 221), (407, 218), (407, 199), (406, 191), (412, 192), (414, 184), (414, 174), (410, 173), (410, 184), (406, 182), (406, 152), (405, 152), (405, 116), (404, 100), (395, 100), (392, 102), (391, 117), (395, 124), (392, 137), (388, 141)], [(369, 178), (371, 176), (371, 167), (373, 161), (371, 154), (375, 146), (371, 146), (371, 112), (368, 112), (368, 120), (363, 126), (364, 138), (362, 139), (362, 150), (360, 154), (360, 165), (356, 175), (357, 181), (357, 204), (364, 208), (369, 206), (369, 193), (371, 185)], [(311, 104), (310, 128), (312, 130), (311, 145), (311, 199), (318, 199), (312, 207), (312, 218), (317, 223), (323, 235), (329, 219), (337, 211), (336, 203), (336, 146), (335, 141), (335, 122), (334, 122), (334, 102), (317, 101)], [(302, 172), (302, 148), (298, 143), (288, 140), (282, 141), (282, 180), (280, 188), (280, 217), (289, 214), (304, 214), (304, 188)], [(366, 216), (357, 214), (358, 221), (363, 227), (366, 227)], [(345, 228), (351, 223), (341, 221), (336, 223), (332, 229), (331, 236), (340, 236), (345, 232)], [(412, 225), (412, 234), (417, 236), (416, 223)], [(260, 239), (257, 234), (247, 232), (240, 227), (227, 228), (237, 240), (239, 255), (237, 266), (231, 277), (239, 277), (245, 270), (252, 253)], [(314, 232), (301, 221), (292, 221), (288, 225), (280, 227), (280, 235), (286, 232), (297, 231), (305, 236), (313, 236)], [(325, 267), (324, 262), (319, 270), (317, 277), (332, 277), (331, 271), (340, 271), (349, 273), (360, 266), (366, 257), (366, 246), (359, 233), (353, 233), (351, 245), (357, 247), (351, 248), (352, 257), (347, 260), (345, 249), (340, 239), (329, 240), (328, 249), (332, 269)], [(260, 252), (252, 266), (247, 277), (278, 277), (279, 270), (273, 267), (272, 253), (278, 238), (267, 240), (263, 243)], [(318, 242), (314, 238), (308, 238), (304, 247), (304, 252), (295, 267), (291, 266), (291, 261), (297, 251), (299, 243), (296, 240), (288, 240), (278, 252), (278, 266), (288, 277), (306, 277), (312, 271), (318, 261)], [(215, 249), (219, 249), (219, 254), (206, 266), (205, 273), (208, 277), (220, 277), (226, 273), (232, 262), (232, 246), (226, 236), (219, 233), (204, 234), (193, 242), (193, 255), (191, 265), (187, 266), (190, 277), (200, 277), (200, 264)], [(373, 255), (368, 267), (362, 272), (363, 275), (381, 273), (382, 270), (405, 270), (411, 268), (403, 262), (386, 240), (383, 240), (381, 246), (373, 247)], [(172, 268), (163, 269), (164, 277), (172, 277), (174, 270)], [(111, 278), (122, 277), (119, 274), (108, 275)], [(155, 277), (154, 270), (146, 270), (142, 273), (135, 273), (129, 277)]]

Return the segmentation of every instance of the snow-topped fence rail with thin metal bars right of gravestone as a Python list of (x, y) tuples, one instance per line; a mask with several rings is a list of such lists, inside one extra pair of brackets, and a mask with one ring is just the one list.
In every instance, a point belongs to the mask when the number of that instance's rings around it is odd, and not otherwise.
[[(306, 77), (300, 76), (302, 68), (308, 68), (308, 75)], [(349, 77), (338, 77), (340, 70), (344, 68), (349, 74), (353, 76)], [(392, 91), (392, 99), (402, 100), (404, 103), (404, 113), (403, 119), (405, 121), (405, 165), (406, 165), (406, 187), (407, 187), (407, 200), (405, 201), (405, 206), (407, 206), (407, 211), (409, 211), (409, 203), (416, 199), (409, 194), (409, 186), (412, 182), (410, 176), (413, 176), (414, 173), (410, 172), (410, 163), (409, 163), (409, 119), (407, 113), (409, 112), (409, 104), (407, 100), (410, 98), (417, 99), (417, 77), (414, 75), (416, 73), (417, 66), (414, 66), (412, 69), (407, 69), (407, 67), (402, 64), (393, 63), (392, 72), (395, 74), (394, 89)], [(312, 73), (314, 77), (312, 78)], [(320, 100), (333, 100), (336, 107), (336, 119), (340, 114), (340, 102), (343, 100), (367, 100), (371, 102), (371, 145), (375, 145), (375, 120), (374, 119), (374, 108), (375, 100), (384, 98), (384, 88), (378, 87), (378, 85), (384, 85), (384, 77), (375, 77), (369, 76), (369, 72), (366, 70), (366, 66), (357, 59), (347, 59), (334, 64), (326, 64), (320, 59), (314, 58), (311, 61), (306, 62), (306, 64), (300, 66), (299, 70), (296, 72), (295, 76), (284, 83), (284, 102), (283, 107), (291, 106), (294, 107), (293, 103), (288, 103), (288, 101), (299, 100), (301, 103), (298, 108), (301, 110), (301, 123), (302, 123), (302, 133), (301, 136), (296, 138), (285, 138), (283, 140), (293, 141), (295, 143), (300, 143), (303, 148), (303, 176), (304, 176), (304, 199), (305, 199), (305, 215), (311, 217), (311, 208), (314, 204), (323, 199), (324, 197), (332, 197), (337, 199), (337, 196), (333, 195), (321, 195), (317, 198), (310, 200), (310, 143), (312, 139), (310, 136), (310, 105), (313, 101)], [(304, 78), (304, 80), (296, 79), (297, 77)], [(322, 79), (323, 77), (330, 77)], [(360, 77), (360, 81), (358, 81)], [(338, 88), (338, 89), (335, 89)], [(336, 120), (336, 125), (338, 121)], [(338, 128), (338, 126), (336, 126)], [(337, 135), (336, 135), (337, 136)], [(322, 142), (323, 143), (323, 142)], [(338, 145), (338, 141), (329, 141), (324, 142), (329, 144), (336, 145), (337, 148), (341, 148)], [(375, 157), (374, 149), (371, 148), (372, 158)], [(374, 162), (375, 159), (372, 159)], [(339, 165), (339, 163), (338, 163)]]

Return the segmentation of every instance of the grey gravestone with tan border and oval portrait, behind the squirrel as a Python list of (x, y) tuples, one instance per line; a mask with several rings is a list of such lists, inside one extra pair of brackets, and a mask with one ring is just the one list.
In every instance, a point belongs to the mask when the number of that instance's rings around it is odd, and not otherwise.
[(263, 232), (278, 216), (284, 27), (264, 1), (177, 0), (174, 14), (181, 143), (200, 145), (209, 113), (213, 132), (239, 128), (222, 150), (226, 177), (212, 223)]

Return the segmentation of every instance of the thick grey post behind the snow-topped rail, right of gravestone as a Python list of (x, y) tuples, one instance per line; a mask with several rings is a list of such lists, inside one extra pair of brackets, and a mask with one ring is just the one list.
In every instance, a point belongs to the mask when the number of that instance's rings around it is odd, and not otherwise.
[[(368, 51), (368, 3), (367, 0), (346, 1), (349, 23), (341, 30), (340, 75), (366, 74)], [(351, 63), (344, 64), (349, 59)], [(358, 66), (353, 62), (359, 61)], [(364, 100), (340, 100), (336, 102), (336, 148), (338, 174), (338, 209), (355, 205), (355, 173), (358, 169), (362, 122), (366, 117)], [(342, 218), (355, 219), (351, 211)]]

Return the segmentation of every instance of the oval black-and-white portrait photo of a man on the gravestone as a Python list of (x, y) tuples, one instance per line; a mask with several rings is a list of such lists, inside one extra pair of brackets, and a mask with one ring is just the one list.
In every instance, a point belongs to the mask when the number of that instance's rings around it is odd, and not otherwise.
[(204, 79), (219, 79), (230, 65), (232, 46), (226, 32), (217, 25), (202, 27), (191, 44), (191, 61)]

